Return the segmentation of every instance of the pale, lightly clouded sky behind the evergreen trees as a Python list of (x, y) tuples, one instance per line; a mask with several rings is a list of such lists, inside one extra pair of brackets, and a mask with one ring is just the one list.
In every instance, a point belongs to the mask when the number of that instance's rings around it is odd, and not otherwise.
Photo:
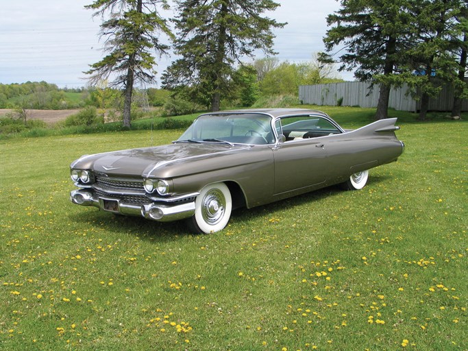
[[(84, 5), (92, 0), (0, 0), (0, 83), (45, 81), (60, 88), (86, 86), (90, 64), (105, 56), (99, 40), (101, 17)], [(324, 51), (326, 17), (339, 9), (336, 0), (276, 0), (268, 16), (287, 22), (275, 29), (279, 60), (306, 62)], [(317, 3), (320, 3), (318, 5)], [(259, 57), (263, 58), (259, 53)], [(157, 82), (173, 57), (158, 60)], [(352, 73), (338, 73), (353, 80)]]

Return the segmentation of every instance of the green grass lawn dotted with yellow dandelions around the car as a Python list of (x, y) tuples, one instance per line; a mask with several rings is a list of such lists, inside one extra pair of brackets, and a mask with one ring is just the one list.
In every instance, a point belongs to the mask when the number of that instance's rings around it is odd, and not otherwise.
[(468, 123), (398, 124), (362, 191), (208, 235), (69, 202), (75, 158), (180, 130), (1, 140), (0, 349), (467, 350)]

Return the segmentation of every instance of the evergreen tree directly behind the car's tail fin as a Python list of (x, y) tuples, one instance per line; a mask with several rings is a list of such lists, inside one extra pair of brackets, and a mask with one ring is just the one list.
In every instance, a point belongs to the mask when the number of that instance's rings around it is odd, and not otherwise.
[[(408, 0), (341, 0), (342, 8), (330, 14), (328, 30), (323, 42), (328, 53), (345, 46), (339, 57), (340, 71), (356, 69), (360, 81), (380, 84), (376, 119), (388, 115), (390, 89), (402, 82), (395, 79), (401, 64), (402, 51), (410, 42), (412, 19)], [(321, 56), (323, 62), (332, 62), (331, 56)]]

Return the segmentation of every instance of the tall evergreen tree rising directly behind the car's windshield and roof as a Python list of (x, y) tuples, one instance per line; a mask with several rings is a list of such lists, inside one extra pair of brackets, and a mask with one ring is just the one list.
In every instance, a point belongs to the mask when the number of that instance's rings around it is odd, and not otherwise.
[(192, 86), (220, 108), (229, 93), (236, 64), (261, 49), (273, 54), (272, 27), (283, 27), (262, 16), (279, 4), (273, 0), (176, 0), (175, 53), (181, 56), (163, 75), (166, 88)]

